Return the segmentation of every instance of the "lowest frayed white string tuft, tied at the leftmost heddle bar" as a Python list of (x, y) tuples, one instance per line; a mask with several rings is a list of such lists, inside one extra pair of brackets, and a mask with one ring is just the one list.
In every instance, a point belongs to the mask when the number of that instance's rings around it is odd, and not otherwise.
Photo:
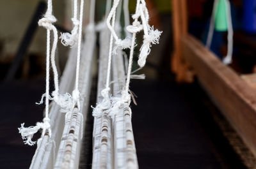
[(44, 118), (44, 122), (36, 122), (36, 126), (29, 126), (28, 128), (24, 127), (25, 123), (21, 124), (19, 133), (22, 136), (25, 144), (35, 145), (36, 142), (32, 141), (33, 135), (38, 132), (39, 129), (42, 129), (42, 136), (45, 135), (45, 132), (48, 130), (49, 136), (51, 136), (51, 124), (49, 118)]

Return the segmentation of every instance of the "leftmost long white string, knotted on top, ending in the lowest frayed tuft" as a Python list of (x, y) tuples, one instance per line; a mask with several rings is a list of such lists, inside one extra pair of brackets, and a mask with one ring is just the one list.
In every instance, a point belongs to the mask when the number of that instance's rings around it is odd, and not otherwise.
[(52, 44), (51, 55), (55, 55), (55, 50), (58, 42), (58, 32), (56, 27), (52, 24), (56, 22), (56, 18), (52, 15), (52, 1), (48, 0), (47, 2), (47, 11), (43, 18), (38, 21), (38, 25), (45, 27), (47, 29), (47, 52), (46, 52), (46, 87), (45, 87), (45, 117), (43, 122), (37, 122), (36, 126), (29, 126), (28, 128), (24, 127), (24, 123), (21, 124), (19, 133), (22, 136), (22, 139), (25, 140), (24, 143), (28, 145), (34, 145), (36, 142), (32, 141), (33, 135), (38, 132), (39, 129), (42, 129), (41, 138), (45, 135), (46, 131), (51, 137), (51, 124), (49, 119), (49, 72), (50, 72), (50, 43), (51, 43), (51, 31), (54, 33), (54, 41)]

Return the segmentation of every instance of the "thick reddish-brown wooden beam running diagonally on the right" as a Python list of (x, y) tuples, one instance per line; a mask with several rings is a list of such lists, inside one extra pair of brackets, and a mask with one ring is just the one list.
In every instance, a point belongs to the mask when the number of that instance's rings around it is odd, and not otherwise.
[(182, 37), (184, 59), (256, 156), (256, 91), (193, 36)]

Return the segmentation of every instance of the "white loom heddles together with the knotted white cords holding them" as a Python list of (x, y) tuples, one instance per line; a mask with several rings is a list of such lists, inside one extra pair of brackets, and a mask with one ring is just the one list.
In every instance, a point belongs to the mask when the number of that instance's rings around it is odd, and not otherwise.
[[(92, 80), (90, 72), (97, 29), (100, 30), (100, 61), (98, 103), (92, 112), (94, 116), (92, 168), (138, 168), (131, 123), (132, 111), (129, 107), (131, 103), (129, 84), (131, 78), (145, 78), (145, 75), (132, 75), (136, 72), (132, 71), (134, 47), (138, 45), (136, 34), (143, 31), (143, 44), (140, 47), (138, 59), (138, 65), (142, 68), (145, 66), (152, 44), (159, 43), (161, 31), (149, 26), (149, 16), (144, 0), (137, 0), (135, 14), (132, 15), (134, 20), (132, 25), (129, 25), (129, 0), (114, 0), (112, 7), (111, 0), (108, 0), (106, 5), (108, 17), (105, 18), (104, 24), (95, 26), (95, 0), (92, 0), (90, 23), (86, 26), (86, 38), (83, 42), (84, 0), (73, 0), (73, 3), (74, 13), (71, 18), (73, 29), (71, 33), (61, 33), (60, 36), (61, 43), (72, 48), (60, 87), (55, 63), (59, 38), (58, 31), (53, 25), (56, 18), (52, 15), (52, 0), (48, 0), (47, 11), (38, 22), (40, 26), (47, 29), (46, 87), (38, 103), (42, 104), (45, 99), (45, 117), (43, 122), (37, 122), (36, 126), (24, 128), (24, 124), (21, 124), (19, 128), (22, 139), (28, 145), (36, 143), (32, 140), (33, 135), (42, 129), (42, 136), (38, 140), (38, 147), (30, 168), (78, 168), (84, 118), (86, 118), (90, 99), (90, 81)], [(124, 10), (126, 36), (123, 40), (118, 37), (121, 30), (122, 10)], [(129, 62), (127, 57), (122, 57), (126, 55), (122, 50), (128, 48), (130, 49)], [(123, 64), (124, 59), (127, 62), (127, 68)], [(52, 94), (49, 93), (50, 66), (54, 79)], [(49, 99), (52, 100), (51, 108)]]

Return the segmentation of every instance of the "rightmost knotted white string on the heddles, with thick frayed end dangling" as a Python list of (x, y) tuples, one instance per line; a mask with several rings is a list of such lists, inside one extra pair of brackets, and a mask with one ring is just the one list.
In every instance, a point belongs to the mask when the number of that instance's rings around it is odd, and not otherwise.
[[(148, 11), (145, 4), (145, 1), (138, 0), (136, 4), (136, 13), (132, 15), (134, 22), (131, 26), (127, 26), (127, 31), (132, 33), (132, 41), (131, 41), (131, 51), (129, 57), (129, 64), (128, 64), (128, 71), (127, 71), (127, 80), (125, 84), (125, 90), (122, 91), (122, 96), (120, 98), (112, 98), (112, 107), (109, 110), (109, 115), (114, 117), (115, 114), (119, 111), (119, 108), (122, 104), (131, 103), (131, 94), (129, 94), (129, 84), (132, 77), (132, 60), (133, 60), (133, 53), (134, 47), (136, 46), (136, 33), (140, 32), (142, 29), (144, 31), (144, 40), (143, 45), (140, 48), (140, 56), (138, 60), (138, 64), (142, 68), (145, 65), (147, 55), (150, 53), (151, 44), (159, 43), (159, 38), (162, 32), (158, 31), (157, 29), (154, 30), (154, 27), (150, 27), (148, 24)], [(141, 18), (141, 23), (138, 21), (138, 18)]]

